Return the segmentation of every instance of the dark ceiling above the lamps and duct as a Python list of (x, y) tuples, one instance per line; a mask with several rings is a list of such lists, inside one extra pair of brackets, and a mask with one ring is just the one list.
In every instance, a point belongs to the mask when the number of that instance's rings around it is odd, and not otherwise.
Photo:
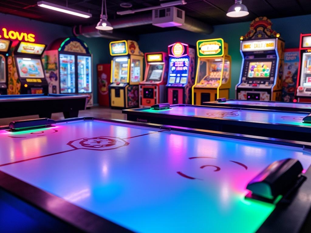
[[(99, 21), (101, 11), (101, 0), (68, 0), (68, 7), (81, 11), (90, 12), (89, 19), (77, 16), (68, 16), (37, 6), (38, 0), (1, 0), (0, 12), (12, 15), (23, 16), (35, 20), (73, 26), (73, 25), (93, 25)], [(66, 0), (45, 0), (54, 4), (66, 6)], [(122, 18), (131, 15), (120, 16), (117, 11), (128, 9), (140, 9), (158, 6), (163, 2), (174, 0), (107, 0), (108, 18)], [(226, 16), (226, 11), (234, 3), (234, 0), (185, 0), (187, 4), (177, 6), (186, 11), (186, 15), (196, 18), (210, 25), (227, 24), (242, 21), (252, 21), (257, 16), (267, 16), (268, 18), (281, 18), (288, 16), (311, 14), (311, 0), (243, 0), (243, 4), (248, 7), (249, 15), (242, 18), (230, 18)], [(120, 3), (129, 2), (131, 8), (120, 7)], [(149, 11), (151, 13), (151, 11)], [(137, 14), (137, 13), (136, 13)], [(171, 30), (161, 29), (148, 25), (135, 27), (137, 33), (159, 32)]]

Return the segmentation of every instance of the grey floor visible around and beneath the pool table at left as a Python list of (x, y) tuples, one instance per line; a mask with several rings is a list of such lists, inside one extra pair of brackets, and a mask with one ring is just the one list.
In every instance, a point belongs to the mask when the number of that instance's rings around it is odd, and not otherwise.
[[(98, 118), (109, 118), (109, 119), (121, 119), (126, 120), (126, 115), (122, 113), (122, 110), (110, 109), (109, 107), (91, 107), (83, 111), (79, 111), (79, 117), (98, 117)], [(0, 126), (8, 125), (11, 121), (26, 120), (39, 118), (38, 115), (24, 116), (24, 117), (11, 117), (11, 118), (0, 118)], [(64, 119), (63, 113), (53, 113), (53, 120)]]

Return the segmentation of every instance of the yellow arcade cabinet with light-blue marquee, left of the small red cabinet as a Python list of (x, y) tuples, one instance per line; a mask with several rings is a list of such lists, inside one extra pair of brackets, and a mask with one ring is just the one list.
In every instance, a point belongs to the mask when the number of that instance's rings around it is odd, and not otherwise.
[(113, 56), (109, 85), (110, 107), (138, 107), (144, 54), (133, 40), (113, 41), (109, 48)]

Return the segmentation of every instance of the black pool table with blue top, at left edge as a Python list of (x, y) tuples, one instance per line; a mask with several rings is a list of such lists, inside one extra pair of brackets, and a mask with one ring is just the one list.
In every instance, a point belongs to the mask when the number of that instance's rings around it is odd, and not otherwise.
[(87, 95), (21, 94), (0, 95), (0, 118), (39, 115), (51, 118), (52, 113), (63, 112), (65, 118), (78, 117), (85, 110)]

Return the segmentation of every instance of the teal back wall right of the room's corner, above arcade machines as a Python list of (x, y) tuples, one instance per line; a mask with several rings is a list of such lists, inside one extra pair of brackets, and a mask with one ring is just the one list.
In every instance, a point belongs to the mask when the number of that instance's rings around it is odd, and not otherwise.
[[(298, 48), (300, 33), (311, 33), (311, 15), (279, 18), (271, 20), (272, 29), (281, 34), (285, 40), (285, 48)], [(142, 52), (167, 52), (167, 46), (176, 41), (195, 45), (197, 40), (223, 38), (229, 46), (232, 57), (230, 98), (234, 98), (234, 87), (239, 81), (242, 57), (239, 51), (240, 36), (249, 30), (250, 22), (224, 24), (214, 26), (214, 32), (209, 35), (197, 34), (185, 30), (151, 33), (140, 35), (138, 41)]]

